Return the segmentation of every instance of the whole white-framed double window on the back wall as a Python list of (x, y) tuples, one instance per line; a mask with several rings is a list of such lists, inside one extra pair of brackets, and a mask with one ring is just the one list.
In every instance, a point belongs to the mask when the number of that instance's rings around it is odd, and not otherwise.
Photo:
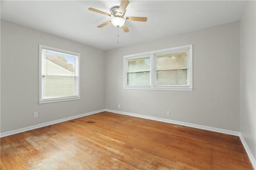
[(192, 91), (192, 45), (124, 56), (124, 89)]

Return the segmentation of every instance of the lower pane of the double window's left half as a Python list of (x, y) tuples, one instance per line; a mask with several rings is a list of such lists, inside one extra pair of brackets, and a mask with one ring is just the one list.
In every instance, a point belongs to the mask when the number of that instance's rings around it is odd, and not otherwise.
[(150, 85), (150, 72), (127, 73), (127, 85)]

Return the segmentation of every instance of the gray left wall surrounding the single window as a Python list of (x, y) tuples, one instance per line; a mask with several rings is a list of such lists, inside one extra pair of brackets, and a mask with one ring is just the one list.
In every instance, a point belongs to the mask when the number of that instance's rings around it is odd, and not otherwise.
[[(80, 100), (38, 104), (38, 44), (81, 54)], [(105, 109), (102, 50), (1, 20), (1, 61), (1, 133)]]

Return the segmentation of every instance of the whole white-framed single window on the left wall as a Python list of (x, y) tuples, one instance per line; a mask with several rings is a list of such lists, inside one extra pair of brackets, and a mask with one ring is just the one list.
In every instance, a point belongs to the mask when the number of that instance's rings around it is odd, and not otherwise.
[(39, 104), (80, 99), (80, 53), (39, 45)]

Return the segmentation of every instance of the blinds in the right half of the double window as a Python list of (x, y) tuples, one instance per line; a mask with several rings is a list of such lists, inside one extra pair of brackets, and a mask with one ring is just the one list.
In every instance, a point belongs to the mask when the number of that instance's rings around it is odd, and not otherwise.
[(188, 84), (188, 52), (156, 56), (156, 85)]

